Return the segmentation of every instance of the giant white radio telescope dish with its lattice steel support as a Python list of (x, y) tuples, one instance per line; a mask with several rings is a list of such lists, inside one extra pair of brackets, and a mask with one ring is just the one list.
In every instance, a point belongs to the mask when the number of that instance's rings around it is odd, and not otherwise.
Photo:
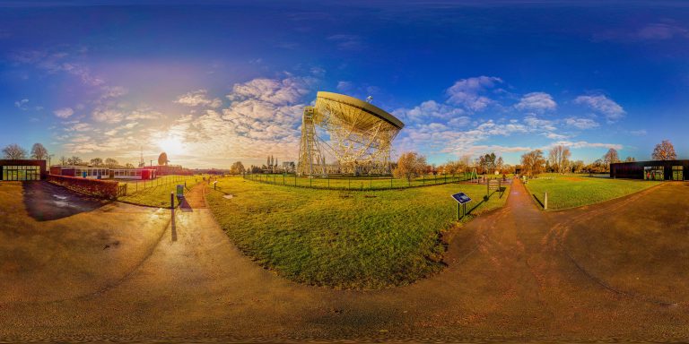
[[(388, 174), (390, 149), (405, 126), (395, 116), (361, 99), (318, 92), (313, 107), (305, 107), (297, 172), (301, 176), (327, 176), (324, 153), (337, 160), (339, 173)], [(329, 140), (318, 136), (325, 132)]]

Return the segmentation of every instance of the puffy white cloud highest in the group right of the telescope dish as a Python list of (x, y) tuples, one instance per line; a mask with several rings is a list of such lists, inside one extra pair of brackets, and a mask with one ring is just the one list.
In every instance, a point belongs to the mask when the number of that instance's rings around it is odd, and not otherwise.
[(492, 99), (481, 95), (481, 93), (501, 82), (500, 78), (493, 76), (478, 76), (459, 80), (446, 90), (449, 97), (448, 102), (473, 111), (481, 111), (493, 103)]

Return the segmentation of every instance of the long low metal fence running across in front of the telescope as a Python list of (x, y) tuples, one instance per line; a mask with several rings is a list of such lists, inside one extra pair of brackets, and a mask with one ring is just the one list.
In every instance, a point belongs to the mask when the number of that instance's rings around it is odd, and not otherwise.
[(293, 187), (307, 187), (313, 189), (328, 190), (390, 190), (405, 189), (429, 185), (443, 185), (459, 183), (469, 180), (469, 174), (461, 175), (428, 175), (419, 176), (411, 180), (395, 178), (393, 176), (328, 176), (308, 177), (297, 176), (293, 173), (268, 174), (253, 173), (244, 174), (244, 179), (272, 185), (285, 185)]

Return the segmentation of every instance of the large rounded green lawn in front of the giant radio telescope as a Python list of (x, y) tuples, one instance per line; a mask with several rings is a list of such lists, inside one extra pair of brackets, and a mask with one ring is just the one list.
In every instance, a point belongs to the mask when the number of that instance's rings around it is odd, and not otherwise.
[(347, 192), (240, 176), (221, 178), (218, 185), (207, 205), (241, 251), (288, 279), (334, 288), (405, 285), (440, 271), (440, 233), (457, 218), (450, 194), (462, 191), (477, 200), (467, 206), (478, 205), (472, 216), (501, 207), (509, 194), (481, 202), (484, 185)]

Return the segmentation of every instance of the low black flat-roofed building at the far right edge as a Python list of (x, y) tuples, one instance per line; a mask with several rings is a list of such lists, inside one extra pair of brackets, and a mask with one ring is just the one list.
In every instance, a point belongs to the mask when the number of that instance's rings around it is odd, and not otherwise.
[(644, 180), (689, 180), (689, 160), (652, 160), (610, 164), (611, 178)]

